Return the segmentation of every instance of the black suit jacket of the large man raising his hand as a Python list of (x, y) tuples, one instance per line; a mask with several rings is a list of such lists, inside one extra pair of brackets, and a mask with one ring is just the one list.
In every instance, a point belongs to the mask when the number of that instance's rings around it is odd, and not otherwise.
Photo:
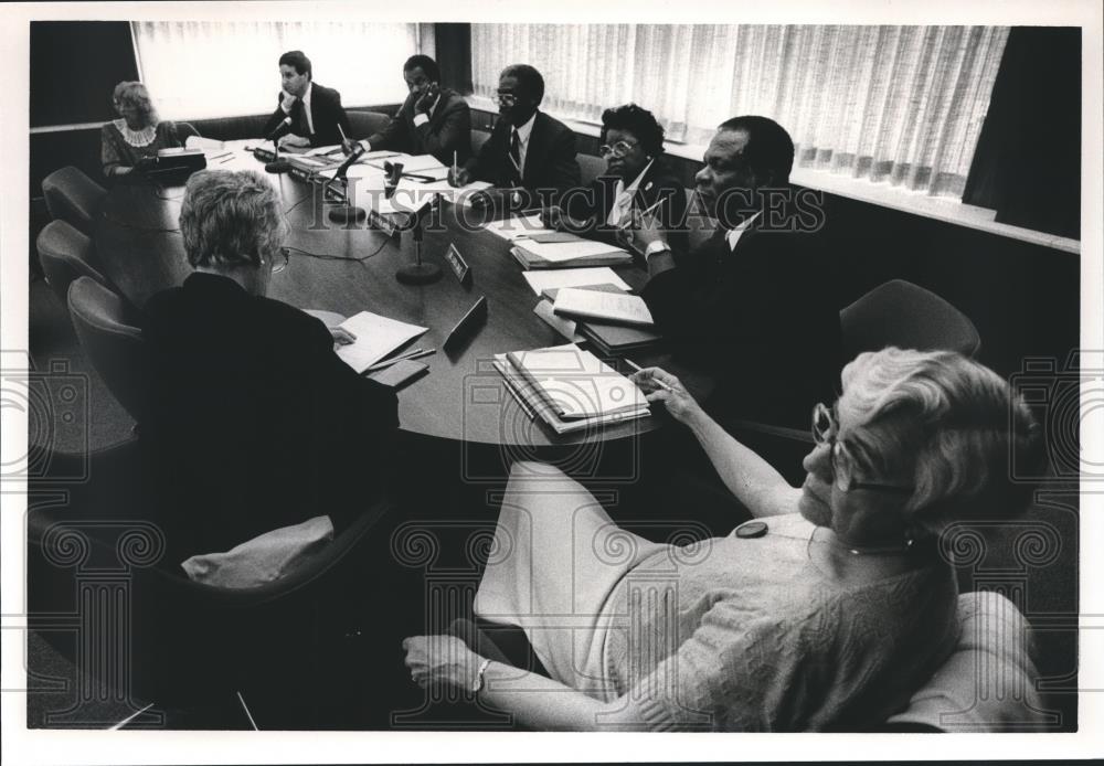
[(768, 231), (761, 215), (735, 251), (719, 230), (641, 296), (677, 353), (718, 377), (705, 409), (807, 428), (839, 392), (835, 269), (819, 233)]

